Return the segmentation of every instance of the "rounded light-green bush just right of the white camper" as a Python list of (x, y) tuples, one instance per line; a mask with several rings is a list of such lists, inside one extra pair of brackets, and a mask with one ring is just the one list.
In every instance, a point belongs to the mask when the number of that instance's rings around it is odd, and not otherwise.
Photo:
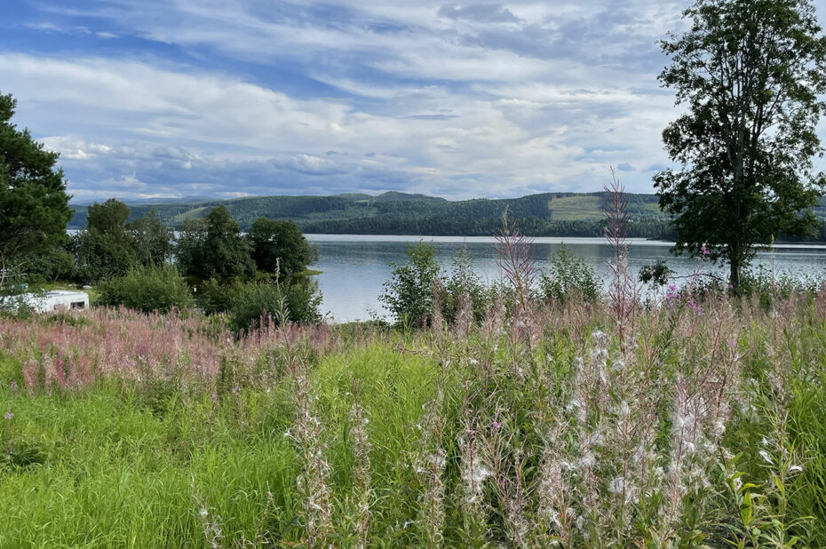
[(99, 305), (123, 305), (145, 313), (193, 306), (187, 282), (171, 266), (136, 267), (125, 276), (101, 282), (97, 290)]

